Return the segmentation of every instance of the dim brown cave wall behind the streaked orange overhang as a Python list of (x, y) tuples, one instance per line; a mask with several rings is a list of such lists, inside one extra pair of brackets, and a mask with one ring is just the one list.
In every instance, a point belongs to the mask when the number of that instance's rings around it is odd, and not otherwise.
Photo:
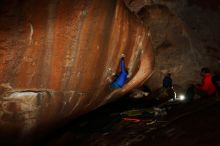
[(167, 72), (174, 87), (185, 90), (200, 82), (204, 66), (219, 72), (220, 2), (218, 0), (125, 0), (152, 34), (154, 74), (147, 84), (156, 89)]

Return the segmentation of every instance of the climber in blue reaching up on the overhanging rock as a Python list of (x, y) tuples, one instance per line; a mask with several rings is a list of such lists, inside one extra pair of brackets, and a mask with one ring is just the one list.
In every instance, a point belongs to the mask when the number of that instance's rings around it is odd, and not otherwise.
[(122, 88), (126, 82), (128, 72), (125, 69), (125, 59), (124, 56), (120, 59), (121, 72), (116, 76), (115, 80), (111, 84), (111, 88), (117, 89)]

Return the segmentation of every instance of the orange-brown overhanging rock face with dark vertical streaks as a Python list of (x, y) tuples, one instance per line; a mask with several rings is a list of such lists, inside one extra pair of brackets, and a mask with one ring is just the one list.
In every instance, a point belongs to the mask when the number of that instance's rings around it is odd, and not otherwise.
[[(122, 0), (1, 3), (4, 134), (26, 134), (89, 112), (142, 84), (152, 72), (150, 33)], [(130, 78), (112, 90), (107, 79), (118, 71), (122, 53)]]

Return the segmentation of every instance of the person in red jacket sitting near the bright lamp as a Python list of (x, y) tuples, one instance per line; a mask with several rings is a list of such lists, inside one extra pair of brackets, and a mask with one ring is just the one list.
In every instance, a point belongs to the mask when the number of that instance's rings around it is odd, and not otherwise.
[(210, 70), (206, 67), (201, 69), (200, 75), (202, 78), (202, 83), (196, 86), (196, 93), (202, 97), (213, 96), (216, 93), (216, 88), (212, 83), (212, 75)]

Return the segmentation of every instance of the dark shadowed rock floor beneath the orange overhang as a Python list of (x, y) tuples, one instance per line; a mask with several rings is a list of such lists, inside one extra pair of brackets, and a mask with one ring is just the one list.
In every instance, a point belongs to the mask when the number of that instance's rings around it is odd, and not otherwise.
[(167, 114), (156, 117), (149, 114), (151, 107), (143, 101), (118, 101), (75, 120), (37, 145), (220, 145), (220, 102), (216, 99), (164, 105)]

